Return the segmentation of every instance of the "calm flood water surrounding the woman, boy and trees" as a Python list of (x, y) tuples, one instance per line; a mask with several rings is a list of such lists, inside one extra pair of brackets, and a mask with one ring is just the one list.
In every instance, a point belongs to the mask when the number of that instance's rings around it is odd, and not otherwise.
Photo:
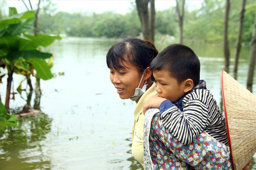
[[(41, 114), (20, 119), (10, 135), (2, 135), (1, 170), (137, 170), (131, 155), (135, 102), (121, 100), (109, 80), (106, 53), (119, 39), (66, 37), (44, 49), (54, 54), (51, 80), (41, 80)], [(157, 44), (161, 51), (168, 44)], [(201, 79), (221, 104), (222, 46), (187, 44), (201, 61)], [(233, 49), (230, 52), (232, 54)], [(240, 55), (237, 80), (246, 87), (249, 48)], [(231, 57), (232, 58), (232, 57)], [(232, 74), (232, 59), (230, 75)], [(64, 73), (64, 75), (59, 75)], [(255, 76), (256, 72), (254, 73)], [(5, 99), (6, 79), (0, 84)], [(23, 80), (14, 76), (14, 89)], [(254, 78), (253, 94), (256, 94)], [(35, 80), (32, 78), (35, 83)], [(22, 88), (27, 88), (22, 83)], [(28, 90), (27, 90), (28, 91)], [(23, 98), (23, 99), (22, 99)], [(27, 94), (16, 94), (10, 107), (23, 107)], [(32, 95), (31, 105), (33, 106)], [(3, 101), (2, 101), (3, 102)], [(4, 102), (3, 102), (4, 103)], [(254, 155), (253, 170), (256, 170)]]

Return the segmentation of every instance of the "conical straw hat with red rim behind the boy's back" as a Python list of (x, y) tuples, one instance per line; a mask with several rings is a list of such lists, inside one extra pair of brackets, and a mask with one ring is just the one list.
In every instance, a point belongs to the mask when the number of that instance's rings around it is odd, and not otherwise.
[(233, 168), (242, 170), (256, 152), (256, 97), (224, 70), (221, 90)]

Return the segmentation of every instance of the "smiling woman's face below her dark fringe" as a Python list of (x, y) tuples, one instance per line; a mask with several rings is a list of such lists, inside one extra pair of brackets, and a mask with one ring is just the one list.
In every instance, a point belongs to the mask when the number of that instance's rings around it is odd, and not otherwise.
[[(124, 68), (117, 70), (110, 68), (110, 80), (117, 89), (121, 99), (130, 99), (140, 83), (142, 74), (138, 73), (137, 67), (131, 65), (128, 61), (124, 61), (123, 65), (125, 66)], [(143, 81), (140, 83), (140, 88), (144, 83)]]

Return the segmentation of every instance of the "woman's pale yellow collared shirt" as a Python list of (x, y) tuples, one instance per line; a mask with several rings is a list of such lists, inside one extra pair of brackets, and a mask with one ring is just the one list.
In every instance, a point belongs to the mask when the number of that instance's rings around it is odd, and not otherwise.
[(152, 82), (151, 87), (140, 97), (140, 100), (135, 106), (134, 109), (134, 125), (131, 133), (131, 152), (134, 158), (140, 162), (140, 164), (145, 168), (143, 162), (143, 145), (142, 145), (142, 136), (143, 136), (143, 125), (144, 125), (144, 114), (142, 112), (143, 105), (152, 95), (156, 95), (156, 84)]

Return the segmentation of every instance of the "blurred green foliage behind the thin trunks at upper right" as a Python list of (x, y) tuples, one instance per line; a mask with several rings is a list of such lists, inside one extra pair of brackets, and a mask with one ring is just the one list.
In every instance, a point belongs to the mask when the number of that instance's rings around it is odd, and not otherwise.
[[(228, 39), (232, 44), (235, 43), (237, 37), (239, 10), (240, 1), (230, 0)], [(256, 2), (253, 0), (247, 0), (242, 34), (243, 42), (251, 41), (255, 10)], [(196, 39), (214, 43), (222, 42), (225, 1), (204, 0), (200, 9), (185, 13), (185, 39)]]

